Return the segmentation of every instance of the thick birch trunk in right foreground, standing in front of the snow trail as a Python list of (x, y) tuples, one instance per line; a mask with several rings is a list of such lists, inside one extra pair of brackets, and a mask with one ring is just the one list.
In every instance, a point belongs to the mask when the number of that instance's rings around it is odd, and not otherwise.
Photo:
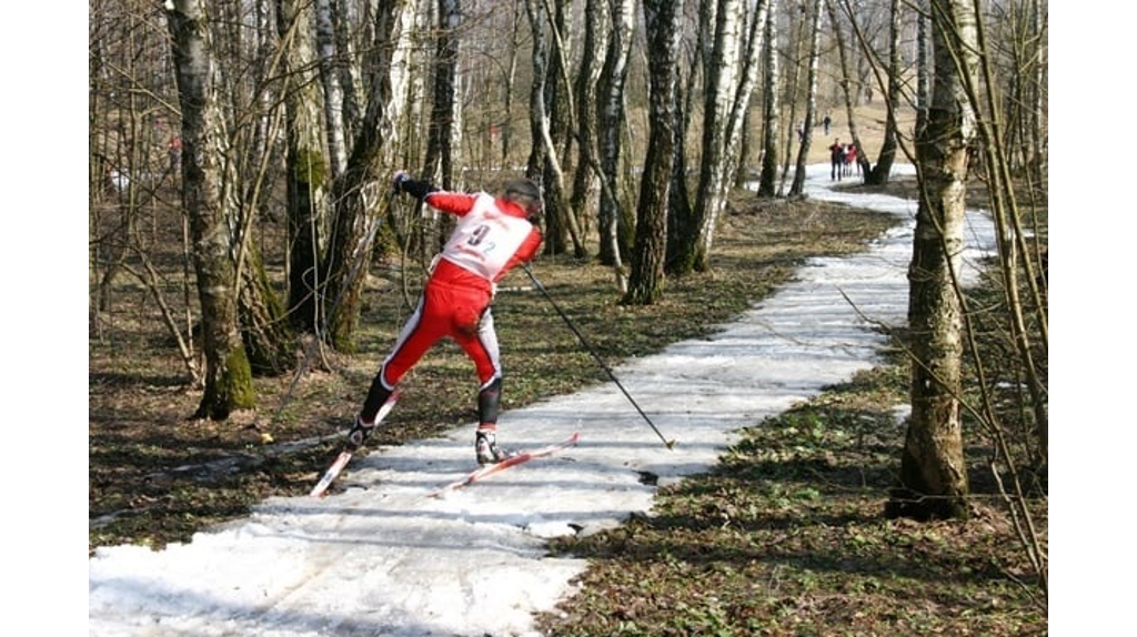
[(889, 514), (919, 520), (969, 516), (957, 273), (964, 249), (968, 153), (977, 124), (964, 91), (978, 69), (973, 11), (968, 0), (931, 0), (935, 75), (928, 125), (916, 139), (922, 194), (908, 267), (912, 416), (899, 485), (887, 505)]

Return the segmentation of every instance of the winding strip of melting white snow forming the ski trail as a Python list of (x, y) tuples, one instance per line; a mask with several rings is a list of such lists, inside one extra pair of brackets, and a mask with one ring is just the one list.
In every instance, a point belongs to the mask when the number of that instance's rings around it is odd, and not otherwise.
[[(586, 568), (547, 556), (547, 538), (648, 511), (656, 487), (642, 484), (642, 472), (663, 484), (703, 472), (738, 428), (872, 367), (883, 337), (843, 293), (872, 321), (904, 321), (915, 203), (829, 185), (828, 166), (810, 168), (813, 199), (908, 223), (863, 253), (811, 260), (797, 282), (709, 338), (614, 368), (664, 436), (678, 441), (674, 450), (612, 383), (504, 413), (511, 446), (573, 430), (581, 442), (445, 498), (426, 494), (470, 469), (472, 426), (372, 450), (341, 477), (343, 494), (272, 498), (246, 520), (163, 551), (98, 550), (89, 561), (89, 634), (536, 635), (533, 613), (571, 595), (571, 579)], [(974, 257), (994, 245), (993, 231), (985, 216), (969, 219)]]

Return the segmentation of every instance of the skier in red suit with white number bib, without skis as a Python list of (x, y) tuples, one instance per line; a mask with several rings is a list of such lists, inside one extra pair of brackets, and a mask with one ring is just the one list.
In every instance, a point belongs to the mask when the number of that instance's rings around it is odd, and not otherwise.
[(490, 304), (497, 283), (540, 249), (541, 190), (522, 178), (508, 182), (497, 196), (446, 192), (405, 173), (396, 175), (393, 187), (396, 193), (456, 216), (457, 223), (434, 258), (417, 308), (371, 383), (348, 433), (348, 445), (358, 447), (367, 439), (379, 409), (404, 375), (435, 343), (450, 337), (473, 361), (480, 382), (474, 434), (478, 463), (500, 462), (507, 456), (497, 444), (501, 362)]

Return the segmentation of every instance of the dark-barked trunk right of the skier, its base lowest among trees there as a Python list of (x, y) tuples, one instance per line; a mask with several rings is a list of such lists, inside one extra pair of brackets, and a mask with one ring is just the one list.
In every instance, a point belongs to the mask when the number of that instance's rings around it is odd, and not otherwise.
[(636, 249), (623, 297), (626, 304), (649, 305), (663, 294), (682, 14), (683, 0), (644, 0), (652, 124), (637, 208)]

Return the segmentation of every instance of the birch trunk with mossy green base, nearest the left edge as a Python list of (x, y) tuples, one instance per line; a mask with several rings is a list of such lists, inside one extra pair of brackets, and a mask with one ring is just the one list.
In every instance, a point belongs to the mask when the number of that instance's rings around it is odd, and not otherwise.
[(201, 303), (205, 392), (194, 416), (224, 420), (255, 403), (252, 371), (238, 325), (235, 228), (238, 206), (223, 171), (226, 136), (209, 57), (209, 25), (201, 0), (167, 5), (174, 74), (182, 109), (182, 203), (190, 218)]

